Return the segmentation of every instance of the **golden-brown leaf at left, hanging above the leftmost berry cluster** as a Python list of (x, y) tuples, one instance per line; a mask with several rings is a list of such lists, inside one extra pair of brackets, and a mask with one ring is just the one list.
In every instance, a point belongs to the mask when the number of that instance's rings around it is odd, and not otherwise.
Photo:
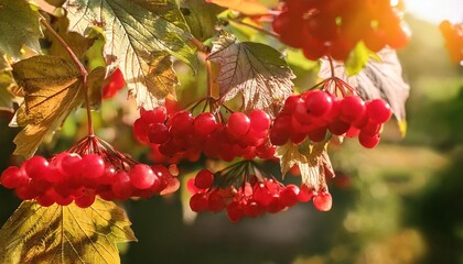
[(83, 102), (83, 79), (75, 65), (55, 56), (34, 56), (12, 65), (24, 102), (11, 127), (24, 127), (14, 138), (14, 154), (32, 156), (45, 134), (58, 128)]

